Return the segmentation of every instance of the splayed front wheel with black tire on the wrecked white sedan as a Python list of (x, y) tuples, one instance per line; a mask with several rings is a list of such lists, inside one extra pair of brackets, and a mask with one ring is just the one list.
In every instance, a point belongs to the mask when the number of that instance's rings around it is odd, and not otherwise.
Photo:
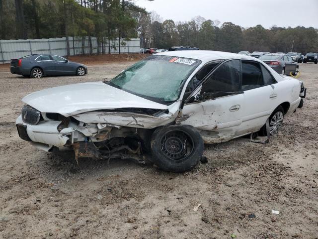
[(200, 133), (190, 125), (159, 127), (152, 134), (152, 161), (164, 171), (191, 170), (200, 162), (203, 149)]

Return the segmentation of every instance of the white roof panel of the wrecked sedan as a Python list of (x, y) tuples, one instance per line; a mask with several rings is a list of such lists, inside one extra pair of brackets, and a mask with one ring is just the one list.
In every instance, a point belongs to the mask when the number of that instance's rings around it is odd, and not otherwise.
[(200, 60), (203, 63), (213, 61), (213, 60), (232, 59), (232, 58), (255, 60), (254, 57), (239, 55), (237, 53), (230, 53), (230, 52), (223, 52), (223, 51), (204, 51), (204, 50), (166, 51), (166, 52), (158, 53), (158, 55), (191, 58), (191, 59)]

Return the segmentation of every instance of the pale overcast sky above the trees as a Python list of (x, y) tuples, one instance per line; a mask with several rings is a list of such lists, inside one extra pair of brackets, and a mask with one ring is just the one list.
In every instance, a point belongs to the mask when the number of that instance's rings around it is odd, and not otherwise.
[(318, 0), (136, 0), (137, 5), (156, 11), (163, 20), (189, 21), (200, 15), (232, 21), (242, 27), (261, 24), (313, 26), (318, 28)]

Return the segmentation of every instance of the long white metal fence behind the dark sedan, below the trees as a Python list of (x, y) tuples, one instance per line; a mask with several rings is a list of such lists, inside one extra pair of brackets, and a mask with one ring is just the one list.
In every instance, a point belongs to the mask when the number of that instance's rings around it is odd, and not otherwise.
[[(108, 40), (104, 39), (105, 53), (108, 53)], [(140, 39), (131, 38), (129, 40), (121, 39), (121, 53), (139, 53)], [(89, 53), (88, 37), (69, 37), (71, 55), (81, 55)], [(97, 39), (91, 37), (93, 53), (97, 53)], [(113, 39), (110, 41), (110, 52), (118, 53), (119, 41)], [(99, 52), (102, 47), (99, 42)], [(66, 38), (49, 39), (27, 39), (27, 40), (0, 40), (0, 63), (9, 63), (11, 59), (17, 59), (30, 54), (54, 54), (59, 56), (67, 55)]]

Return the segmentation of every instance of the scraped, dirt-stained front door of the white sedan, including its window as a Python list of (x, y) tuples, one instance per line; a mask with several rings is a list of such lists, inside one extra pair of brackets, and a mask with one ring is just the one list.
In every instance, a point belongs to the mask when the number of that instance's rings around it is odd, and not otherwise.
[(197, 128), (206, 143), (228, 141), (237, 135), (243, 103), (238, 92), (239, 70), (238, 59), (218, 65), (190, 95), (196, 100), (182, 109), (181, 124)]

